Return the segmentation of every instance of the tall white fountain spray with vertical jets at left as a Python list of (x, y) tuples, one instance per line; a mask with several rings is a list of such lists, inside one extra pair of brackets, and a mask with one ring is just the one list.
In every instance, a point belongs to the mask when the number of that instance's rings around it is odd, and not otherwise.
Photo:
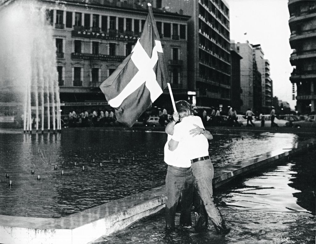
[(24, 131), (61, 129), (56, 46), (45, 6), (0, 6), (0, 116)]

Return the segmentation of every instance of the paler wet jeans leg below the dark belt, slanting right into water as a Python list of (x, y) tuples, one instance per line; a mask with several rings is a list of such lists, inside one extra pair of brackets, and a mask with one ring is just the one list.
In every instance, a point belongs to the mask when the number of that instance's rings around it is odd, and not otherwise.
[(213, 202), (214, 168), (210, 159), (191, 163), (194, 184), (204, 203), (205, 210), (217, 231), (226, 229), (223, 217)]

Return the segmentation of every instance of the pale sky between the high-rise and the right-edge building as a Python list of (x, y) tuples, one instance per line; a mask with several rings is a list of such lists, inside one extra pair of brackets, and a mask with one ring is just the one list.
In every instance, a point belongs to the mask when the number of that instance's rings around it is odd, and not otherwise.
[[(294, 109), (292, 84), (289, 81), (293, 67), (289, 58), (288, 0), (225, 0), (229, 5), (230, 39), (235, 43), (260, 44), (264, 59), (270, 61), (273, 96), (287, 101)], [(245, 35), (245, 33), (247, 33)]]

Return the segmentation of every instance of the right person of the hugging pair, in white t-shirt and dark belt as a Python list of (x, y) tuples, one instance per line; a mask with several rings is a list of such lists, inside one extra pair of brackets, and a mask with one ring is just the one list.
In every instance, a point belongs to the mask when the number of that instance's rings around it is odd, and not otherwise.
[(176, 102), (176, 109), (179, 113), (180, 123), (173, 125), (173, 133), (168, 148), (170, 151), (177, 150), (177, 153), (185, 159), (190, 159), (194, 184), (204, 203), (205, 210), (216, 231), (220, 234), (226, 234), (230, 228), (226, 227), (221, 212), (213, 202), (214, 168), (208, 151), (208, 139), (213, 139), (213, 136), (204, 129), (201, 118), (192, 115), (188, 102), (183, 100)]

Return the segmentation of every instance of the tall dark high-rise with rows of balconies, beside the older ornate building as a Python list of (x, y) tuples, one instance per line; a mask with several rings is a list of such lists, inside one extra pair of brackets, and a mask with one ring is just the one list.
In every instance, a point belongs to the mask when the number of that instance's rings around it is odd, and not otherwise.
[(196, 94), (192, 103), (227, 108), (231, 102), (228, 4), (223, 0), (161, 0), (160, 7), (191, 16), (187, 68), (190, 94)]

